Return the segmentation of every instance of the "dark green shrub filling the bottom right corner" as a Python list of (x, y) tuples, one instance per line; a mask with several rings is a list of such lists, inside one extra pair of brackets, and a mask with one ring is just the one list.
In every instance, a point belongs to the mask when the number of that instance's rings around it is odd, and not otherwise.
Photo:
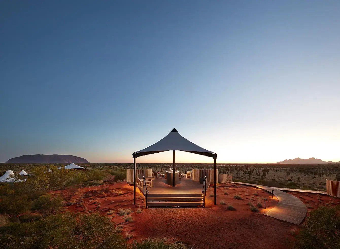
[(306, 224), (293, 242), (296, 249), (338, 249), (340, 245), (339, 207), (320, 206), (309, 213)]

